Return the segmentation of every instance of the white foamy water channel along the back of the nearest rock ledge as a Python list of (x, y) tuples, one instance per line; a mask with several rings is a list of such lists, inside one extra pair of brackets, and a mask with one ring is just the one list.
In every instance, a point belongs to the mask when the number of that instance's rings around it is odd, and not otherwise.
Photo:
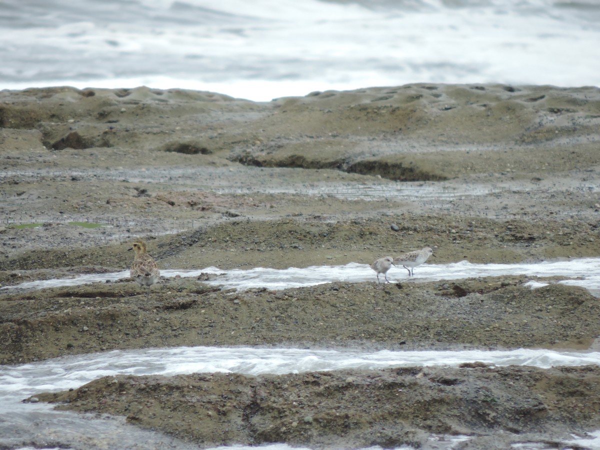
[(0, 395), (14, 397), (35, 392), (77, 388), (104, 376), (190, 373), (287, 374), (344, 369), (379, 370), (389, 367), (457, 366), (481, 361), (490, 366), (600, 364), (598, 352), (556, 350), (463, 350), (362, 352), (356, 350), (262, 349), (256, 347), (175, 347), (112, 350), (66, 356), (44, 362), (0, 367)]

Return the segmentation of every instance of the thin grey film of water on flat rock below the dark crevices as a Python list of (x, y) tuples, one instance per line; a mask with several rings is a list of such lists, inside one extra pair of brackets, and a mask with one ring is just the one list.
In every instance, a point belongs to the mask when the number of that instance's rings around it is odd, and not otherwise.
[[(340, 181), (335, 171), (332, 181), (326, 178), (328, 169), (306, 170), (287, 167), (150, 167), (139, 178), (139, 172), (130, 169), (80, 169), (65, 173), (64, 170), (8, 170), (7, 178), (19, 177), (36, 181), (43, 177), (70, 179), (78, 176), (85, 179), (104, 181), (163, 183), (176, 189), (193, 188), (197, 191), (211, 191), (220, 194), (302, 194), (308, 196), (333, 196), (346, 200), (382, 199), (449, 199), (461, 196), (480, 196), (501, 190), (490, 183), (457, 184), (455, 182), (394, 182), (383, 179), (380, 182)], [(334, 172), (332, 170), (332, 172)], [(242, 173), (242, 175), (240, 175)], [(248, 176), (250, 175), (250, 176)], [(313, 181), (307, 181), (307, 178)], [(281, 180), (286, 182), (282, 183)], [(514, 191), (518, 186), (509, 187)]]

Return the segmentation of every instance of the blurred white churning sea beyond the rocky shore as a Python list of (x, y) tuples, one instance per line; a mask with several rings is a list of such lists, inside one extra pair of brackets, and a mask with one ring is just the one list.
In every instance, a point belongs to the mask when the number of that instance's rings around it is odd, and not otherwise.
[(600, 85), (597, 0), (2, 0), (0, 89)]

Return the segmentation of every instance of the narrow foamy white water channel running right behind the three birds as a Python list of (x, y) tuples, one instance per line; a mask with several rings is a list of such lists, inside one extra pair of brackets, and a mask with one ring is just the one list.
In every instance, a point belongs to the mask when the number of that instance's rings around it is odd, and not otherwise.
[[(252, 268), (222, 270), (207, 267), (199, 270), (162, 269), (162, 278), (196, 278), (200, 275), (211, 275), (202, 283), (220, 286), (223, 289), (269, 290), (287, 289), (290, 287), (316, 286), (317, 284), (344, 281), (361, 283), (376, 281), (375, 272), (370, 263), (348, 263), (343, 266), (310, 266), (306, 268), (290, 267), (287, 269)], [(392, 283), (404, 281), (424, 282), (440, 280), (460, 280), (462, 278), (497, 277), (502, 275), (527, 275), (529, 277), (565, 277), (557, 283), (569, 286), (584, 287), (592, 295), (600, 296), (600, 258), (581, 258), (552, 262), (517, 263), (517, 264), (475, 264), (460, 261), (449, 264), (425, 263), (415, 268), (414, 277), (408, 277), (406, 269), (394, 267), (387, 276)], [(14, 286), (4, 286), (1, 290), (44, 289), (47, 287), (79, 286), (88, 283), (106, 283), (128, 278), (129, 271), (107, 274), (75, 275), (71, 278), (55, 278), (52, 280), (27, 281)], [(168, 281), (164, 281), (163, 283)], [(530, 281), (528, 286), (535, 288), (546, 286), (545, 281)]]

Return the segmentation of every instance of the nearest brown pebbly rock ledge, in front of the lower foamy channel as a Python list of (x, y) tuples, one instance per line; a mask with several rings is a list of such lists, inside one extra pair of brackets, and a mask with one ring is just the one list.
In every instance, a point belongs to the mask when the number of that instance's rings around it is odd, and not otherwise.
[[(539, 442), (559, 448), (566, 433), (596, 426), (600, 368), (481, 366), (117, 376), (38, 397), (80, 412), (124, 415), (206, 446), (427, 448), (436, 433), (476, 436), (468, 448)], [(505, 433), (490, 439), (490, 428)]]

